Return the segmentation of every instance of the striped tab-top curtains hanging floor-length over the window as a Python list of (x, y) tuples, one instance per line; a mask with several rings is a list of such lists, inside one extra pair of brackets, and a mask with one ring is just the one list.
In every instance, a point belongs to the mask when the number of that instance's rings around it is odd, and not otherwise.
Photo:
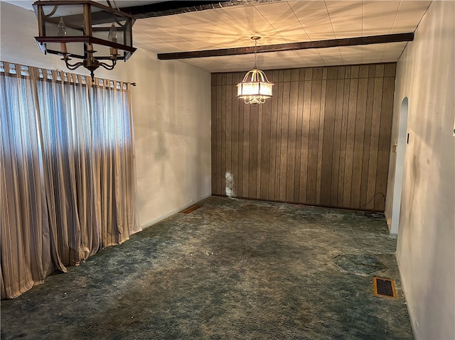
[(138, 231), (129, 85), (0, 62), (1, 298)]

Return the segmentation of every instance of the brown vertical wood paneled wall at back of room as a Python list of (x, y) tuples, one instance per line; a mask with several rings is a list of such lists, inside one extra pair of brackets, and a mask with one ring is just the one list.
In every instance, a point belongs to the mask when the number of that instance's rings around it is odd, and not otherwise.
[(212, 75), (212, 192), (383, 211), (395, 63), (267, 71), (274, 97)]

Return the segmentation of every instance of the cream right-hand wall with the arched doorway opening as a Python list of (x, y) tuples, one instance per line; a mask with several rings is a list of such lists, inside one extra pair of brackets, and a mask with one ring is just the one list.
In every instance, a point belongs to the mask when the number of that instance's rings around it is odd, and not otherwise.
[[(455, 2), (433, 1), (397, 63), (409, 100), (397, 260), (416, 339), (455, 339)], [(393, 197), (395, 154), (387, 197)], [(386, 214), (391, 215), (392, 202)]]

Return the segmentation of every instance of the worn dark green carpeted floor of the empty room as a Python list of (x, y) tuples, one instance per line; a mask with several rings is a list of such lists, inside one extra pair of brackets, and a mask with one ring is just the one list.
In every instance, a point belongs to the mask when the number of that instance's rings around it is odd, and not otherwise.
[[(413, 339), (376, 215), (210, 197), (1, 302), (1, 339)], [(373, 276), (398, 298), (373, 295)]]

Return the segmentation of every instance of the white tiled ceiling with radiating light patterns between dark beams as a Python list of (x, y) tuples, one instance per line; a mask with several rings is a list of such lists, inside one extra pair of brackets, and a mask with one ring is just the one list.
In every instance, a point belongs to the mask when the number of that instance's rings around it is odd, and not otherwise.
[[(31, 8), (33, 1), (8, 2)], [(115, 1), (119, 7), (151, 2), (156, 1)], [(432, 1), (245, 2), (245, 5), (138, 19), (133, 26), (134, 46), (153, 53), (173, 53), (252, 46), (252, 35), (262, 37), (258, 45), (272, 45), (410, 33), (417, 28)], [(259, 53), (257, 67), (272, 70), (395, 62), (406, 44), (386, 43)], [(210, 72), (234, 72), (252, 68), (254, 56), (230, 55), (181, 61)]]

